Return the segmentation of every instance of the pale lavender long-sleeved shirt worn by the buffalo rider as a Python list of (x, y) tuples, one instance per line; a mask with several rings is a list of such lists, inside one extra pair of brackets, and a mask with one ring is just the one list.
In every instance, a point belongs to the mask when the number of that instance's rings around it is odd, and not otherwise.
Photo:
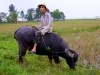
[(53, 19), (51, 15), (46, 12), (44, 15), (41, 16), (41, 23), (37, 28), (41, 30), (43, 35), (45, 35), (45, 33), (50, 33), (52, 32), (52, 22)]

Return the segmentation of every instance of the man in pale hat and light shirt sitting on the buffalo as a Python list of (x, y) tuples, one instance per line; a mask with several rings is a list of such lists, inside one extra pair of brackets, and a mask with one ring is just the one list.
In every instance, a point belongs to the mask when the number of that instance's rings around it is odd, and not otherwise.
[(40, 12), (42, 13), (41, 15), (41, 23), (38, 27), (32, 26), (33, 28), (39, 29), (35, 33), (35, 42), (34, 42), (34, 47), (33, 49), (29, 52), (29, 54), (35, 54), (36, 53), (36, 47), (37, 44), (40, 42), (40, 35), (45, 35), (46, 33), (52, 32), (52, 17), (51, 15), (47, 12), (47, 7), (45, 4), (40, 4), (38, 5), (38, 8), (40, 9)]

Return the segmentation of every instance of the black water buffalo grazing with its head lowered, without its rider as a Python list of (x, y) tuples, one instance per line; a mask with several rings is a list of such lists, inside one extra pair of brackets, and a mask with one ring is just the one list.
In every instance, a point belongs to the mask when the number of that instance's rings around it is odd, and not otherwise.
[[(31, 28), (29, 26), (21, 27), (15, 31), (14, 36), (19, 45), (19, 61), (22, 64), (24, 63), (24, 56), (26, 54), (26, 51), (33, 48), (36, 31), (37, 29)], [(43, 39), (45, 41), (45, 44), (50, 47), (50, 51), (46, 49)], [(43, 39), (40, 39), (40, 43), (37, 46), (37, 55), (47, 55), (51, 65), (53, 58), (59, 68), (59, 56), (61, 56), (66, 60), (70, 69), (75, 69), (75, 63), (78, 60), (80, 50), (78, 51), (78, 53), (76, 53), (75, 51), (70, 49), (63, 38), (55, 33), (48, 33), (43, 36)]]

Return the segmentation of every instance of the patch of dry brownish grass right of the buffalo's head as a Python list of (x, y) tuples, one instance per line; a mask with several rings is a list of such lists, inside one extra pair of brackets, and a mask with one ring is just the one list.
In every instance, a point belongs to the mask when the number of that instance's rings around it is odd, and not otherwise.
[(63, 38), (69, 43), (71, 48), (77, 51), (78, 45), (81, 47), (79, 62), (85, 65), (96, 65), (100, 63), (100, 30), (95, 32), (82, 32), (68, 34)]

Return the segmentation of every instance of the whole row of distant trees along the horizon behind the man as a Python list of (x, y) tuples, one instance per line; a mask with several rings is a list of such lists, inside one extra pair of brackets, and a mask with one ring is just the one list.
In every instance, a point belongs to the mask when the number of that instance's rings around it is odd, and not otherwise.
[[(51, 14), (53, 17), (53, 20), (65, 20), (64, 12), (59, 11), (59, 9), (56, 9), (52, 12), (50, 12), (49, 9), (47, 9), (47, 12)], [(17, 11), (15, 10), (15, 6), (11, 4), (9, 6), (9, 13), (1, 12), (0, 13), (0, 22), (9, 22), (9, 23), (17, 23), (18, 18), (21, 18), (22, 21), (34, 21), (34, 20), (40, 20), (41, 18), (41, 12), (39, 8), (29, 8), (27, 10), (27, 13), (25, 14), (24, 11)]]

